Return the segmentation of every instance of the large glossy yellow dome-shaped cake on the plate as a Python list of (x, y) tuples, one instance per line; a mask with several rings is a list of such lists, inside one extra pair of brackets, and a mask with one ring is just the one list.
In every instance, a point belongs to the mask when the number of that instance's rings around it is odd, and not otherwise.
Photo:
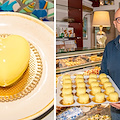
[(30, 46), (19, 35), (0, 38), (0, 86), (10, 86), (18, 81), (28, 67)]

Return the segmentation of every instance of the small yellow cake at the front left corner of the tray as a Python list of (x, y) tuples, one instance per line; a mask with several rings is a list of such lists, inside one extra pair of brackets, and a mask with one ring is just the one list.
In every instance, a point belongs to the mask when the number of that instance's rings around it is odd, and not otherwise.
[(66, 94), (63, 96), (63, 104), (64, 105), (71, 105), (74, 103), (74, 98), (72, 94)]

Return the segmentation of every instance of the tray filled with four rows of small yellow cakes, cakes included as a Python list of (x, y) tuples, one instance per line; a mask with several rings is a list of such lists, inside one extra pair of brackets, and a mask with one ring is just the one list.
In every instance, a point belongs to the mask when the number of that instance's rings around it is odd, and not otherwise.
[(57, 106), (93, 105), (120, 101), (120, 91), (105, 73), (64, 74), (58, 78)]

